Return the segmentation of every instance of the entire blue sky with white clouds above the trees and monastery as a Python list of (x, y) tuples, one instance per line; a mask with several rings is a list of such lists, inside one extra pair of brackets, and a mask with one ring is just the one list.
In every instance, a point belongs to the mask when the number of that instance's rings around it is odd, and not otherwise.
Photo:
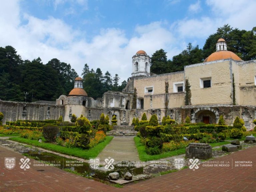
[(52, 58), (81, 75), (85, 63), (123, 81), (132, 56), (163, 48), (168, 59), (189, 42), (203, 47), (218, 27), (251, 30), (254, 0), (0, 0), (0, 46), (22, 59)]

